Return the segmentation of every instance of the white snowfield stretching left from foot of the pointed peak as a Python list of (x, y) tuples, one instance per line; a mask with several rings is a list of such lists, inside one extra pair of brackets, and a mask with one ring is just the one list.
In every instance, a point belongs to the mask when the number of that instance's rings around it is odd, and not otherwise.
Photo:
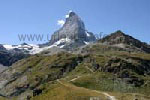
[(35, 44), (27, 44), (27, 43), (23, 43), (20, 45), (2, 45), (4, 50), (7, 51), (20, 51), (22, 53), (26, 53), (26, 54), (37, 54), (40, 53), (42, 51), (48, 50), (50, 48), (53, 47), (58, 47), (60, 49), (62, 49), (66, 43), (71, 43), (71, 39), (68, 38), (63, 38), (60, 39), (59, 41), (55, 42), (52, 45), (35, 45)]

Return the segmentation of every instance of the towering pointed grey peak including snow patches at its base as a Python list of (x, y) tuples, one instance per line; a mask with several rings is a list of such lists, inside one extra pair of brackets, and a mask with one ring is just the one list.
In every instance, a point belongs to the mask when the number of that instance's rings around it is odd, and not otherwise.
[(66, 16), (65, 24), (58, 31), (54, 32), (49, 44), (60, 43), (58, 46), (61, 48), (73, 48), (94, 42), (95, 40), (96, 38), (93, 33), (85, 29), (81, 18), (75, 12), (70, 11)]

